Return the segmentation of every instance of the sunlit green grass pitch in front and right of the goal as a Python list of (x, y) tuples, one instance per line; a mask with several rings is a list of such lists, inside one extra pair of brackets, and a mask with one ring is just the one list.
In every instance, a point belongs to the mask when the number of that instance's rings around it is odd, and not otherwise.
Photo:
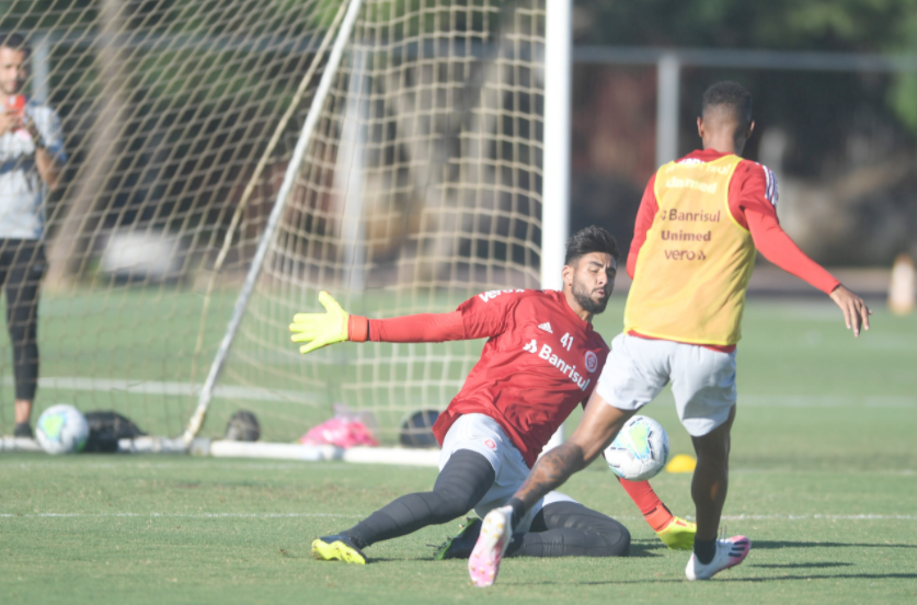
[[(620, 313), (597, 322), (609, 339)], [(723, 525), (753, 549), (710, 582), (685, 581), (687, 555), (601, 465), (562, 491), (622, 521), (631, 557), (508, 560), (479, 590), (463, 561), (429, 560), (457, 522), (375, 545), (366, 567), (309, 556), (434, 469), (3, 454), (0, 603), (917, 602), (917, 317), (876, 309), (855, 340), (830, 302), (754, 300), (738, 386)], [(645, 412), (689, 452), (667, 392)], [(653, 484), (692, 514), (689, 476)]]

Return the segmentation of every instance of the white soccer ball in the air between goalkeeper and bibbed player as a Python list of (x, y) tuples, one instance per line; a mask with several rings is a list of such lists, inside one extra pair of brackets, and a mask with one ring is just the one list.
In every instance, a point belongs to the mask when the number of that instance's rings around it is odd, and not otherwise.
[(668, 435), (652, 418), (635, 415), (605, 448), (605, 460), (615, 475), (628, 481), (645, 481), (668, 459)]

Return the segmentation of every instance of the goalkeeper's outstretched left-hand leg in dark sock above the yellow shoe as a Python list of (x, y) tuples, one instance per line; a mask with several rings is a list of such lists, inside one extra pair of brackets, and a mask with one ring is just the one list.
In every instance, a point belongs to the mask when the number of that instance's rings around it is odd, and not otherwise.
[(432, 492), (402, 495), (342, 534), (357, 548), (366, 548), (427, 525), (448, 523), (480, 502), (494, 478), (486, 458), (470, 449), (459, 449), (443, 467)]

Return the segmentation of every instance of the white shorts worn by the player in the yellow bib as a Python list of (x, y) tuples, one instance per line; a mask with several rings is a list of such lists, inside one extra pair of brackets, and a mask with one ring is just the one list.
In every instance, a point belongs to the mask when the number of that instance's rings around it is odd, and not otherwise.
[(703, 436), (735, 406), (735, 351), (618, 334), (595, 392), (615, 408), (639, 410), (669, 380), (681, 424), (691, 436)]

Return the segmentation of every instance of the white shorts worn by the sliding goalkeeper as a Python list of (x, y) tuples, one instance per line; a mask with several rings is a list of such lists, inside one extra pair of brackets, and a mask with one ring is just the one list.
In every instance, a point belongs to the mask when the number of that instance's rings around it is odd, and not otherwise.
[[(446, 466), (452, 453), (458, 449), (477, 452), (488, 459), (493, 467), (495, 479), (484, 498), (474, 506), (474, 512), (484, 518), (491, 510), (503, 506), (528, 479), (529, 468), (509, 437), (490, 416), (484, 414), (465, 414), (449, 427), (439, 454), (439, 470)], [(541, 509), (553, 502), (575, 502), (569, 495), (550, 492), (526, 513), (517, 527), (518, 532), (528, 532), (531, 521)]]

